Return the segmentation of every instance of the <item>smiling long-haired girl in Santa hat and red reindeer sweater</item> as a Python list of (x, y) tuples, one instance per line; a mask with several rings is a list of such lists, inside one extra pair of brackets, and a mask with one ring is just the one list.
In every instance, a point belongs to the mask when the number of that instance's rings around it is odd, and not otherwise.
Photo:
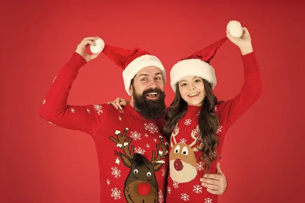
[[(228, 128), (260, 97), (260, 71), (246, 27), (240, 38), (227, 37), (179, 61), (170, 71), (175, 98), (166, 113), (164, 135), (170, 138), (166, 202), (217, 202), (199, 185), (206, 173), (216, 172)], [(209, 65), (229, 39), (240, 48), (245, 80), (232, 100), (219, 102), (213, 94), (215, 71)], [(213, 184), (213, 180), (206, 180)]]

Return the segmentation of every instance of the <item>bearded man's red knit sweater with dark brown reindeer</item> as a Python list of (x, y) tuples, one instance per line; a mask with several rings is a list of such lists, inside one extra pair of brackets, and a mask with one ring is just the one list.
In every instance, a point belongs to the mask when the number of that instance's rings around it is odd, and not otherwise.
[(85, 59), (74, 52), (53, 80), (40, 115), (51, 124), (93, 137), (99, 161), (101, 202), (164, 202), (168, 142), (164, 120), (146, 120), (130, 105), (68, 105), (68, 95)]

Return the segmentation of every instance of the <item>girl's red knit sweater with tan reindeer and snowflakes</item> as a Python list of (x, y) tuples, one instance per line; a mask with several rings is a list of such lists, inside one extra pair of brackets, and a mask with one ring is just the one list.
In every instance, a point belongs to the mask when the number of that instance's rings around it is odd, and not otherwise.
[[(241, 56), (245, 80), (240, 93), (233, 99), (219, 103), (214, 110), (220, 125), (217, 131), (221, 154), (224, 137), (229, 127), (260, 97), (262, 83), (254, 52)], [(201, 106), (188, 106), (188, 111), (174, 129), (169, 150), (169, 176), (166, 202), (216, 203), (217, 195), (210, 194), (201, 186), (199, 179), (204, 174), (201, 152), (195, 147), (198, 133), (198, 117)], [(216, 161), (210, 164), (208, 173), (216, 173)]]

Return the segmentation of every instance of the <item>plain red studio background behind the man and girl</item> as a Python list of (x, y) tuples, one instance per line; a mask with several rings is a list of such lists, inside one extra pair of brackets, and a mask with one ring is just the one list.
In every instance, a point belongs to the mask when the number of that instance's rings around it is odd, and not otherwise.
[[(227, 133), (221, 168), (229, 185), (220, 202), (300, 202), (305, 169), (304, 3), (153, 2), (3, 3), (0, 202), (99, 202), (92, 138), (39, 117), (52, 80), (84, 37), (99, 35), (108, 44), (139, 46), (156, 54), (169, 81), (170, 67), (224, 37), (229, 20), (249, 29), (263, 95)], [(227, 41), (211, 65), (218, 98), (235, 96), (243, 82), (239, 49)], [(128, 98), (121, 72), (101, 54), (80, 70), (68, 102)], [(169, 105), (169, 82), (165, 91)]]

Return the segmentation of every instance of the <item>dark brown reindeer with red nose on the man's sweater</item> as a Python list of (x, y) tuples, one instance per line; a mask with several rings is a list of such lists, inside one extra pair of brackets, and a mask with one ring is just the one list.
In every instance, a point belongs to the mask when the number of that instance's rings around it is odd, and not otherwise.
[[(110, 136), (110, 140), (116, 143), (116, 147), (124, 151), (124, 153), (118, 152), (117, 155), (124, 165), (130, 168), (124, 185), (125, 198), (127, 202), (158, 202), (158, 193), (160, 198), (163, 198), (163, 193), (162, 190), (160, 192), (158, 190), (155, 172), (159, 171), (165, 163), (163, 159), (168, 154), (168, 142), (164, 143), (160, 135), (160, 143), (157, 143), (157, 154), (153, 150), (151, 160), (148, 160), (142, 155), (145, 150), (148, 151), (147, 146), (146, 148), (143, 147), (142, 150), (139, 150), (139, 147), (138, 153), (134, 154), (135, 148), (134, 145), (131, 145), (132, 139), (127, 136), (128, 130), (128, 128), (125, 128), (123, 134), (120, 131), (115, 131), (116, 136)], [(140, 136), (140, 134), (138, 135)], [(140, 137), (138, 138), (140, 139)]]

